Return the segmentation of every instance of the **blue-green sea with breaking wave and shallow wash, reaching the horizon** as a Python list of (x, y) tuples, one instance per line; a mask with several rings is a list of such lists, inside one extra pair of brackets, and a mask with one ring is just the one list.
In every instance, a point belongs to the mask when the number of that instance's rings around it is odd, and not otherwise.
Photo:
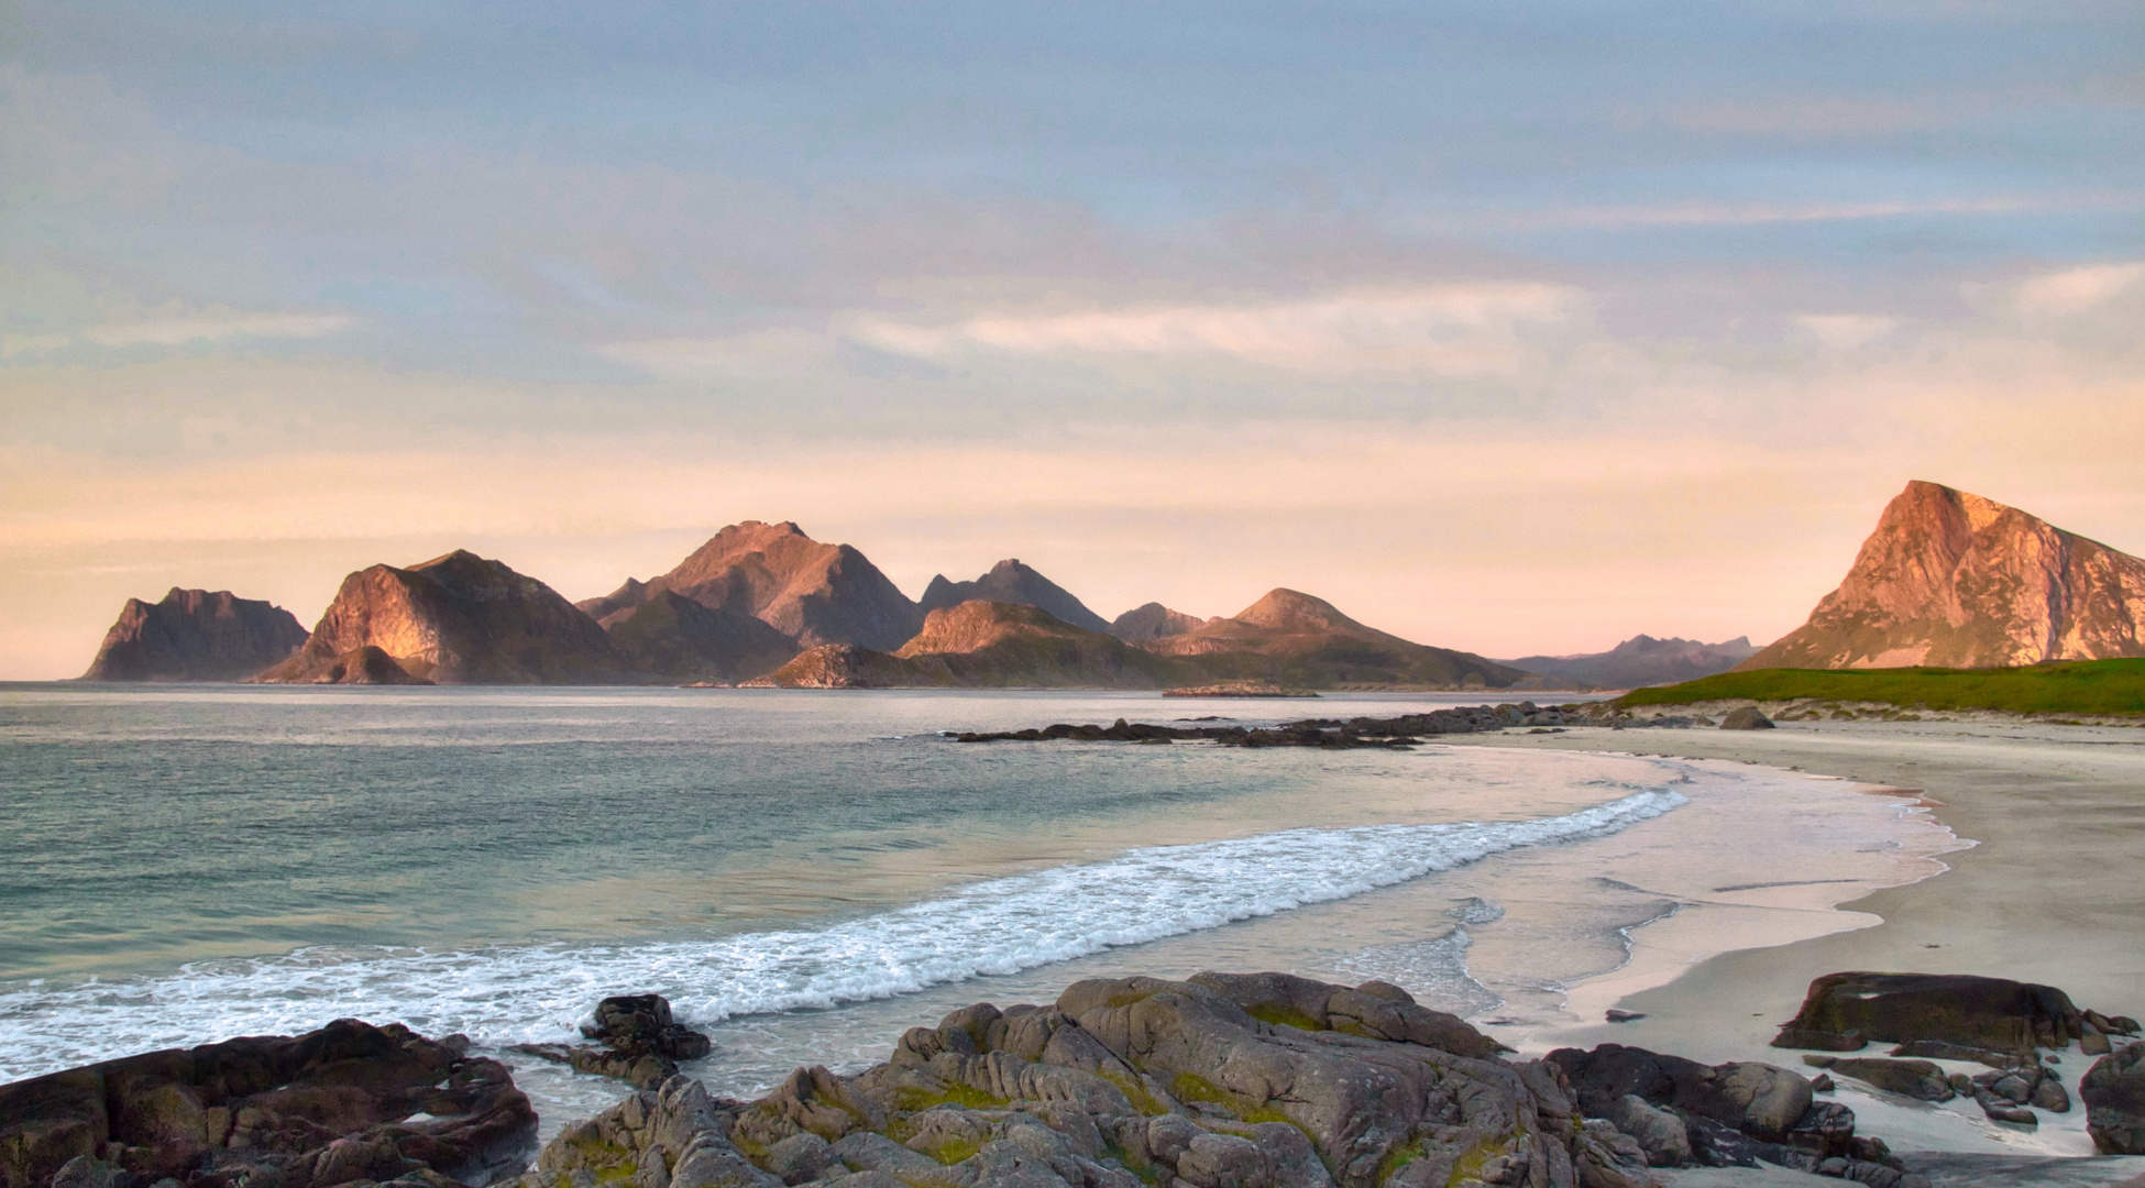
[[(0, 686), (0, 1081), (330, 1019), (465, 1034), (545, 1134), (624, 1087), (513, 1053), (661, 993), (749, 1098), (1096, 976), (1396, 982), (1570, 1023), (1650, 924), (1699, 961), (1941, 871), (1913, 793), (1671, 751), (991, 742), (1480, 695)], [(1817, 892), (1813, 899), (1813, 890)], [(1662, 931), (1667, 933), (1667, 931)], [(1673, 963), (1671, 963), (1673, 965)]]

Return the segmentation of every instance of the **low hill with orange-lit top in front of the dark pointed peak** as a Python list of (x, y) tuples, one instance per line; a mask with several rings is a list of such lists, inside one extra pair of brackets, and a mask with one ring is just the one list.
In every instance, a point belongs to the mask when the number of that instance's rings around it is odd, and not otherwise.
[(768, 675), (792, 688), (1163, 688), (1197, 669), (1060, 622), (1042, 607), (974, 598), (924, 618), (899, 652), (828, 643)]

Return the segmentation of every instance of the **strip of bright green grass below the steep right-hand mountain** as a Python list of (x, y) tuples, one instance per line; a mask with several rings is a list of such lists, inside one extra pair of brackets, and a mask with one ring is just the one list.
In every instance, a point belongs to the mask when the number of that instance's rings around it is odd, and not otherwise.
[(2076, 660), (2029, 669), (1757, 669), (1660, 688), (1617, 706), (1692, 701), (1879, 701), (1915, 710), (2145, 714), (2145, 660)]

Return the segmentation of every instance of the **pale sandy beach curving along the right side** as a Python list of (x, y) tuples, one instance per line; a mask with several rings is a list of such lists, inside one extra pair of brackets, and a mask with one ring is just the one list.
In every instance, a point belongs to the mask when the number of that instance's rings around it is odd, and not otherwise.
[[(1632, 1023), (1587, 1023), (1521, 1038), (1525, 1051), (1602, 1042), (1671, 1051), (1703, 1061), (1770, 1059), (1800, 1068), (1800, 1053), (1770, 1049), (1774, 1027), (1808, 982), (1843, 969), (1988, 974), (2061, 986), (2102, 1012), (2145, 1010), (2145, 729), (2046, 725), (1999, 716), (1924, 723), (1782, 723), (1772, 731), (1570, 729), (1454, 738), (1465, 746), (1624, 751), (1737, 759), (1847, 778), (1903, 796), (1971, 841), (1943, 853), (1948, 871), (1840, 903), (1851, 931), (1778, 944), (1718, 937), (1692, 948), (1675, 918), (1632, 933), (1626, 969), (1574, 984), (1572, 1010), (1600, 1019), (1617, 1006)], [(1692, 916), (1705, 916), (1703, 911)], [(1662, 929), (1647, 937), (1652, 929)], [(1765, 948), (1733, 948), (1763, 944)], [(1733, 950), (1731, 950), (1733, 948)], [(1508, 1040), (1510, 1042), (1510, 1040)], [(1875, 1051), (1875, 1049), (1873, 1049)], [(2076, 1085), (2087, 1059), (2066, 1053)], [(1965, 1068), (1965, 1066), (1961, 1066)], [(2038, 1132), (1999, 1128), (1967, 1102), (1930, 1107), (1843, 1085), (1862, 1132), (1928, 1160), (1937, 1184), (2119, 1184), (2145, 1158), (2083, 1158), (2083, 1107), (2048, 1115)], [(1673, 1173), (1680, 1186), (1823, 1184), (1780, 1169)]]

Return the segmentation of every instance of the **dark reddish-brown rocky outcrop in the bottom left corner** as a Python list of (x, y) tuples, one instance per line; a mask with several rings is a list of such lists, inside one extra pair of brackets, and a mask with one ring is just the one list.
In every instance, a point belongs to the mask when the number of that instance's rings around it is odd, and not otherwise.
[(536, 1111), (465, 1049), (341, 1019), (0, 1085), (0, 1188), (489, 1184), (519, 1171)]

